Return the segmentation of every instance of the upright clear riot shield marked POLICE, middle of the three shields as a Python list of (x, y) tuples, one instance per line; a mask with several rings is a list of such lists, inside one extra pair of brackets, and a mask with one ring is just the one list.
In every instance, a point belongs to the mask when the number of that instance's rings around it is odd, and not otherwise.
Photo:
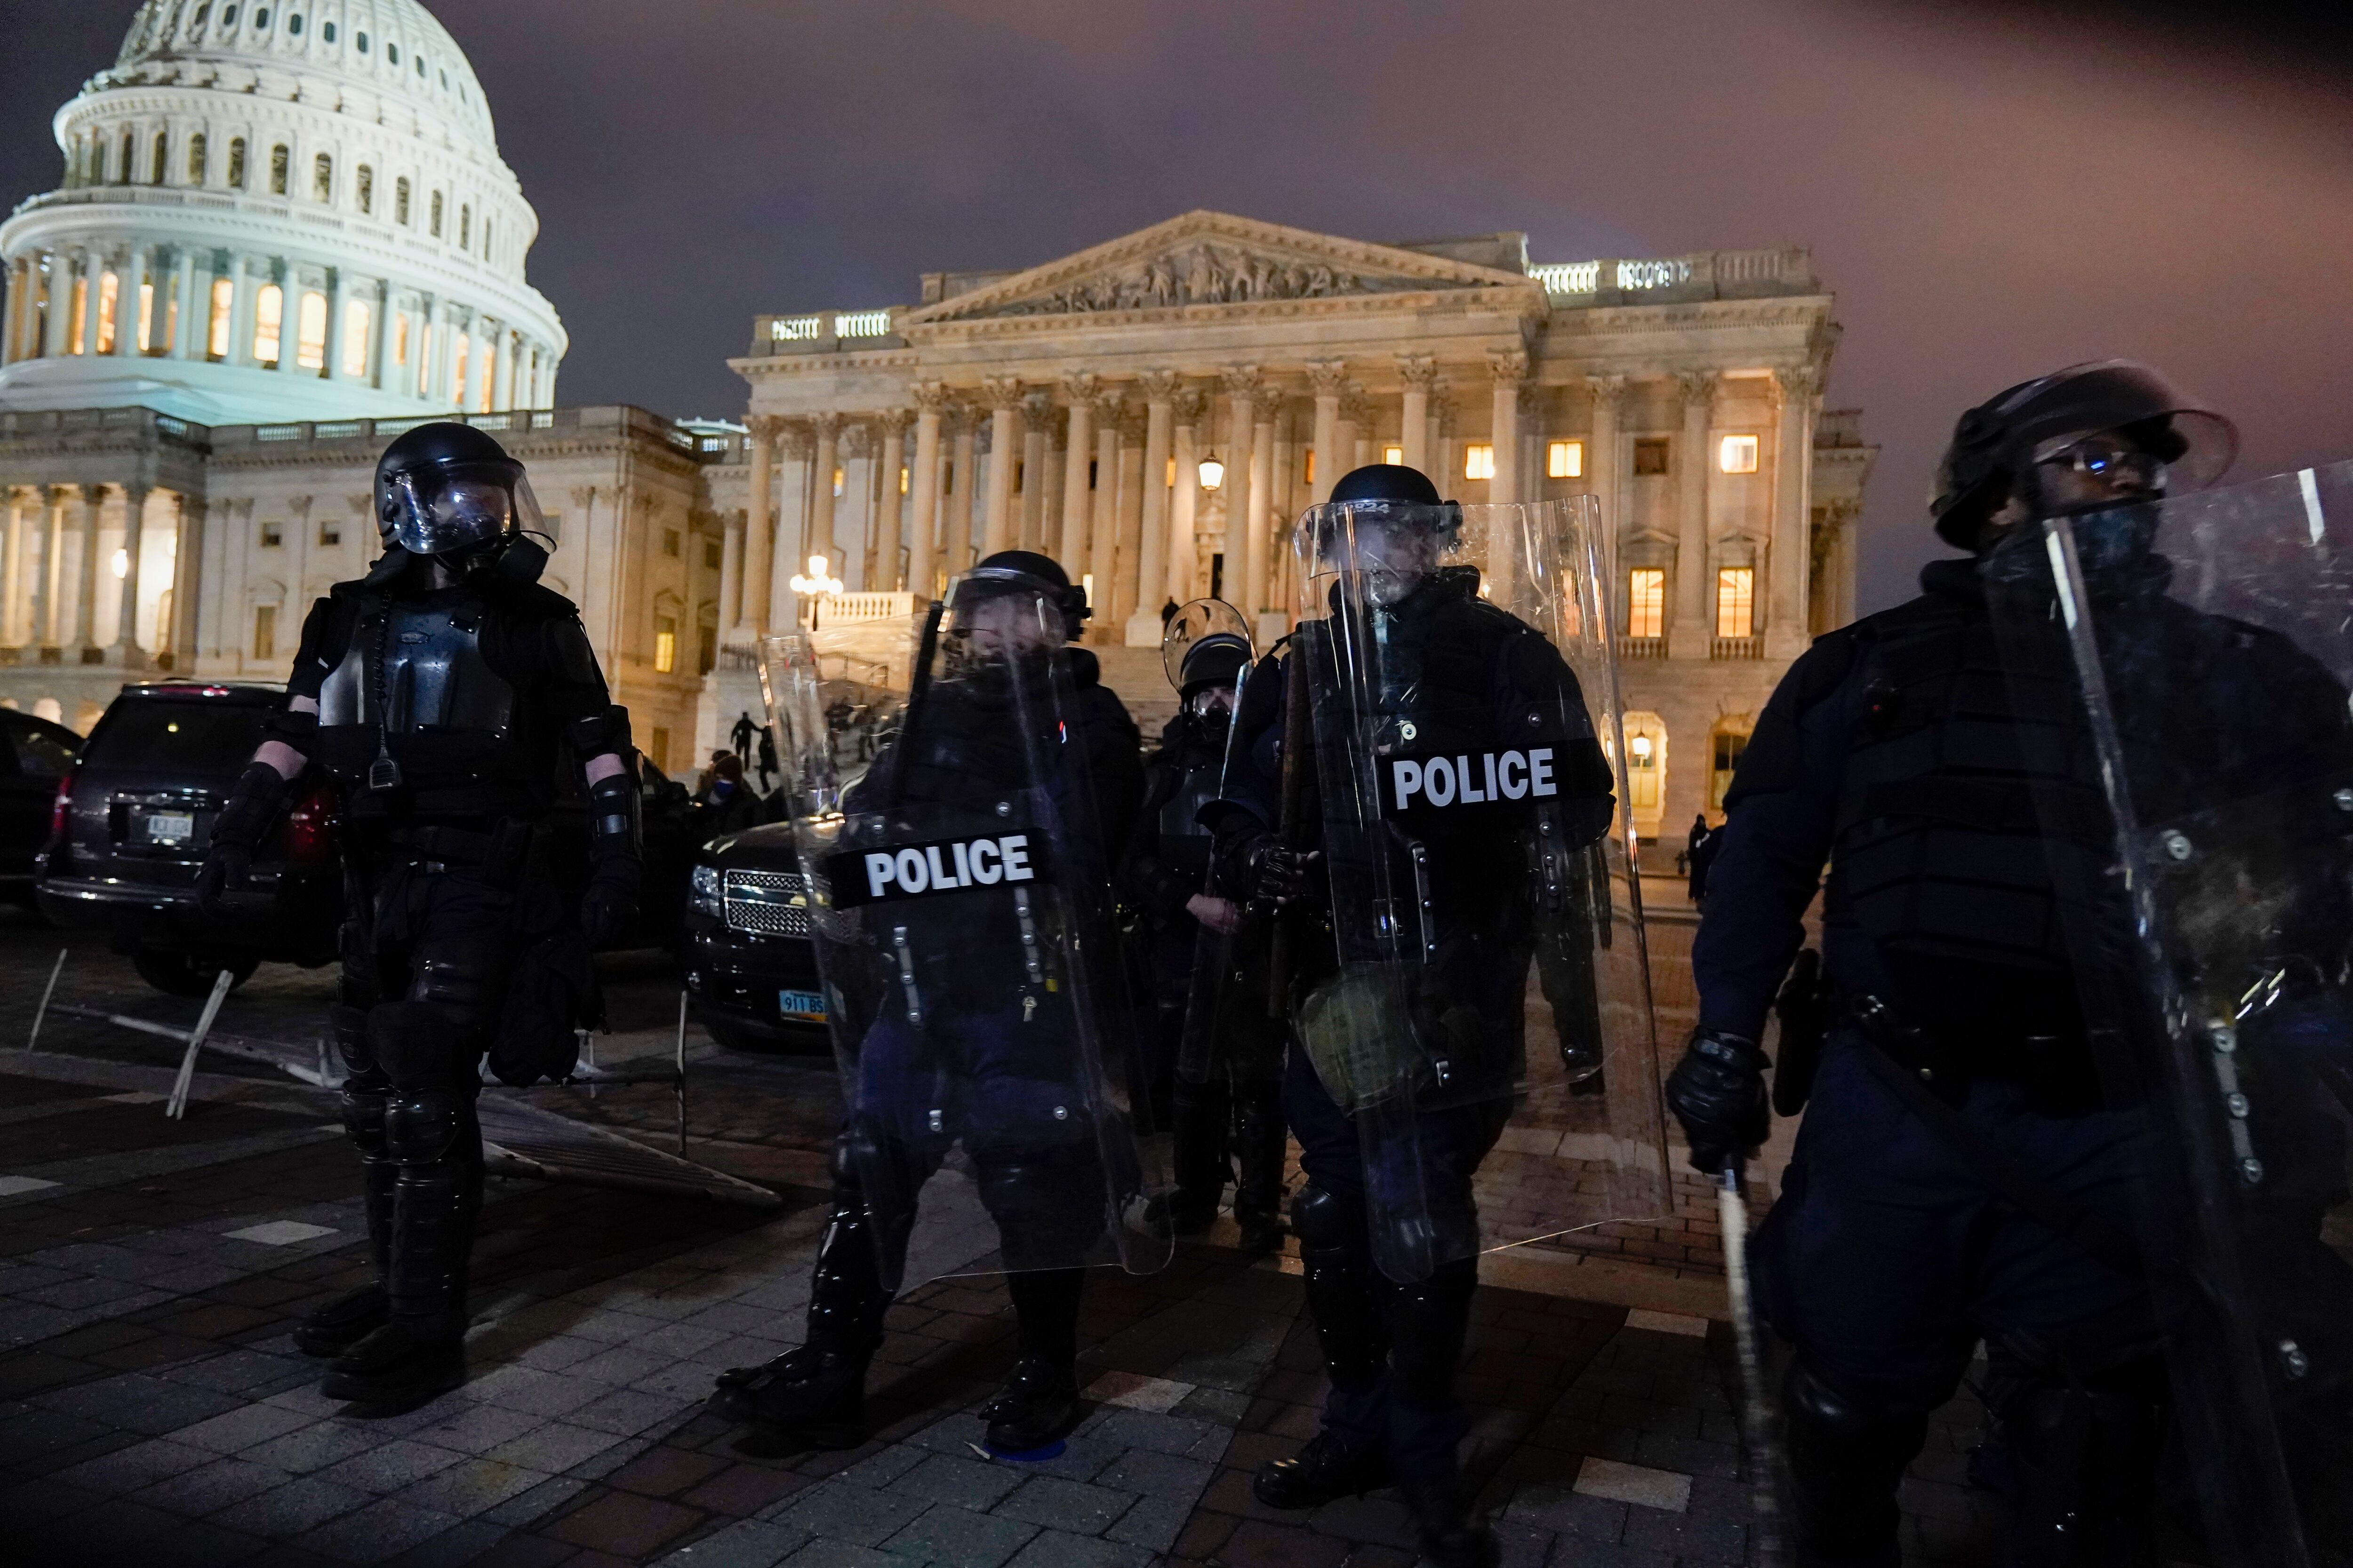
[(1294, 1041), (1355, 1117), (1381, 1272), (1661, 1218), (1598, 508), (1320, 505), (1294, 548), (1337, 950)]

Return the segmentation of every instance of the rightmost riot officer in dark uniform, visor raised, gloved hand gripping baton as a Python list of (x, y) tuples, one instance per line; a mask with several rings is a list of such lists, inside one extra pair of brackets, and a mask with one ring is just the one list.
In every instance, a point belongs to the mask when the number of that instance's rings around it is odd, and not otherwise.
[[(1800, 1563), (1901, 1561), (1897, 1481), (1979, 1338), (1998, 1373), (2009, 1561), (2153, 1561), (2167, 1396), (2132, 1241), (2148, 1128), (2094, 1072), (2066, 931), (2071, 907), (2111, 896), (2113, 827), (2089, 748), (2071, 745), (2059, 604), (2028, 618), (2047, 644), (2005, 658), (1986, 581), (2005, 552), (2042, 550), (2035, 520), (2160, 496), (2169, 465), (2219, 473), (2233, 440), (2129, 362), (1969, 409), (1934, 522), (1974, 559), (1929, 562), (1922, 597), (1819, 637), (1741, 757), (1694, 947), (1699, 1027), (1668, 1105), (1699, 1171), (1762, 1140), (1758, 1039), (1828, 860), (1835, 1023), (1817, 1065), (1784, 1018), (1777, 1103), (1805, 1100), (1793, 1074), (1812, 1074), (1812, 1103), (1751, 1246), (1760, 1309), (1795, 1345)], [(2162, 599), (2146, 541), (2085, 569), (2160, 646), (2226, 628)], [(2245, 646), (2228, 656), (2280, 701), (2327, 679)], [(2322, 710), (2344, 717), (2341, 701)]]

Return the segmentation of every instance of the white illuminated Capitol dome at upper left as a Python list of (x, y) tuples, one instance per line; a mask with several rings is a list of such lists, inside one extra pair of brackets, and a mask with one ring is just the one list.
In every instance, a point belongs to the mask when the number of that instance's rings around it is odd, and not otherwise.
[(0, 409), (207, 425), (544, 409), (565, 329), (416, 0), (148, 0), (0, 223)]

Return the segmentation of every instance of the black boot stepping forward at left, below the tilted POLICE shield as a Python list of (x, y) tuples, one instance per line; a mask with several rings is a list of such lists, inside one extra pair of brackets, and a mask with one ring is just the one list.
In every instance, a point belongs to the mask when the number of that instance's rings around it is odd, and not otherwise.
[(762, 1366), (720, 1373), (711, 1392), (713, 1415), (751, 1427), (755, 1446), (776, 1453), (866, 1441), (866, 1366), (882, 1342), (889, 1295), (866, 1199), (840, 1147), (833, 1180), (833, 1220), (809, 1281), (807, 1340)]

